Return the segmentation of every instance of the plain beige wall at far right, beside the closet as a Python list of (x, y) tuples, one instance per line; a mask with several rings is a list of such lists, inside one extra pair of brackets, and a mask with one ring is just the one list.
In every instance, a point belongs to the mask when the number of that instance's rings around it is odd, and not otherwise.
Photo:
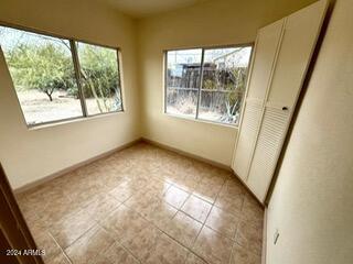
[(336, 1), (284, 157), (268, 208), (268, 264), (353, 263), (352, 3)]

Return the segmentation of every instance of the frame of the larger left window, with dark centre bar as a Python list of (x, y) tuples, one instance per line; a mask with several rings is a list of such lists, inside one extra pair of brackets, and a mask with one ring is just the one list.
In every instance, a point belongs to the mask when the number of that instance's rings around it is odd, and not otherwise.
[[(73, 66), (74, 66), (75, 80), (76, 80), (76, 86), (77, 86), (77, 89), (78, 89), (78, 99), (79, 99), (79, 103), (81, 103), (82, 116), (72, 117), (72, 118), (64, 118), (64, 119), (56, 119), (56, 120), (51, 120), (51, 121), (29, 124), (26, 122), (26, 120), (25, 120), (25, 116), (24, 116), (24, 112), (23, 112), (23, 109), (22, 109), (22, 106), (21, 106), (21, 102), (20, 102), (20, 98), (19, 98), (19, 96), (17, 94), (17, 90), (15, 90), (15, 87), (13, 85), (13, 88), (14, 88), (14, 91), (15, 91), (15, 96), (17, 96), (17, 99), (18, 99), (18, 103), (20, 106), (20, 110), (21, 110), (24, 123), (28, 127), (28, 129), (46, 127), (49, 124), (55, 124), (55, 123), (58, 123), (58, 124), (60, 123), (66, 123), (67, 121), (74, 121), (74, 120), (86, 120), (86, 119), (89, 119), (89, 118), (96, 118), (96, 117), (100, 117), (100, 116), (107, 116), (107, 114), (113, 114), (113, 113), (125, 112), (124, 92), (122, 92), (122, 86), (124, 86), (122, 84), (124, 84), (124, 81), (122, 81), (122, 74), (121, 74), (122, 70), (121, 70), (121, 50), (120, 50), (120, 47), (106, 45), (106, 44), (100, 44), (100, 43), (95, 43), (95, 42), (92, 42), (92, 41), (81, 40), (81, 38), (76, 38), (76, 37), (60, 35), (60, 34), (55, 34), (55, 33), (52, 33), (52, 32), (43, 31), (43, 30), (38, 30), (38, 29), (32, 29), (32, 28), (28, 28), (28, 26), (22, 26), (22, 25), (18, 25), (18, 24), (3, 22), (1, 20), (0, 20), (0, 26), (14, 29), (14, 30), (20, 30), (20, 31), (24, 31), (24, 32), (29, 32), (29, 33), (39, 34), (39, 35), (61, 38), (61, 40), (67, 41), (69, 43), (71, 55), (72, 55), (72, 61), (73, 61)], [(98, 47), (105, 47), (105, 48), (115, 50), (115, 52), (117, 54), (117, 67), (118, 67), (118, 77), (119, 77), (119, 84), (117, 84), (117, 87), (119, 87), (120, 98), (121, 98), (121, 109), (120, 110), (114, 110), (114, 111), (108, 111), (108, 112), (88, 114), (87, 107), (86, 107), (86, 99), (84, 97), (84, 91), (83, 91), (83, 88), (82, 88), (82, 78), (81, 78), (81, 73), (79, 73), (81, 66), (79, 66), (79, 59), (78, 59), (76, 43), (84, 43), (84, 44), (88, 44), (88, 45), (95, 45), (95, 46), (98, 46)], [(0, 45), (0, 50), (3, 53), (2, 48), (1, 48), (1, 45)], [(8, 65), (7, 65), (7, 67), (8, 67)], [(11, 76), (11, 80), (12, 80), (12, 76)], [(13, 82), (13, 80), (12, 80), (12, 82)]]

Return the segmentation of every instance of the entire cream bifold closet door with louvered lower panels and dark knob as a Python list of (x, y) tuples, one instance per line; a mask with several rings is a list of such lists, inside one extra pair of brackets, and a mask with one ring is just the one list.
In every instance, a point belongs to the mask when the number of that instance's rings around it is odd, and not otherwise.
[(327, 12), (315, 2), (258, 31), (233, 169), (264, 202)]

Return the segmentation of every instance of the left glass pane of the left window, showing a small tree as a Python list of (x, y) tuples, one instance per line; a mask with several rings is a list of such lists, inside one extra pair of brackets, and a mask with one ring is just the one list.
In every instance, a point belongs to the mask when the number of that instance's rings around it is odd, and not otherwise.
[(83, 116), (67, 40), (0, 26), (0, 45), (28, 124)]

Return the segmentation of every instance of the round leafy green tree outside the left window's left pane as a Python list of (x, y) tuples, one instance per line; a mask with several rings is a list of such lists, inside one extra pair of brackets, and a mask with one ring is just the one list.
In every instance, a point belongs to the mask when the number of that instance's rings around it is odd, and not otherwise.
[(21, 44), (8, 57), (15, 85), (23, 89), (38, 89), (53, 100), (53, 92), (68, 87), (73, 79), (72, 62), (66, 53), (52, 43)]

